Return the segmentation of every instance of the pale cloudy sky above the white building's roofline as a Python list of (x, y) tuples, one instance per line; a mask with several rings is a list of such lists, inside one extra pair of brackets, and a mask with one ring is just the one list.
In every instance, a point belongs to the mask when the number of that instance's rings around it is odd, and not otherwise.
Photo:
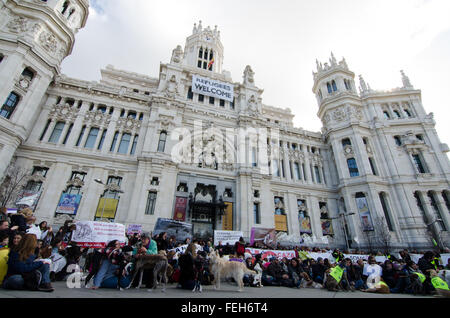
[(332, 51), (375, 90), (402, 86), (404, 70), (450, 144), (449, 12), (448, 0), (91, 0), (62, 71), (100, 80), (100, 69), (112, 64), (158, 77), (159, 63), (202, 20), (221, 31), (233, 80), (251, 65), (263, 103), (289, 107), (296, 127), (320, 131), (312, 71)]

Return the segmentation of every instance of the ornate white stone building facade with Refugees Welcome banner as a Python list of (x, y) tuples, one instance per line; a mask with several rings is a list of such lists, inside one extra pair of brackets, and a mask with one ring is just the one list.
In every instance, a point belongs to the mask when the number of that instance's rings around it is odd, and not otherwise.
[(201, 22), (158, 78), (111, 65), (99, 82), (64, 76), (88, 8), (0, 2), (0, 178), (31, 172), (39, 221), (151, 231), (173, 218), (198, 236), (259, 227), (314, 246), (449, 245), (449, 148), (403, 72), (401, 88), (360, 77), (357, 90), (345, 59), (317, 62), (323, 128), (310, 132), (263, 103), (250, 66), (232, 80), (220, 31)]

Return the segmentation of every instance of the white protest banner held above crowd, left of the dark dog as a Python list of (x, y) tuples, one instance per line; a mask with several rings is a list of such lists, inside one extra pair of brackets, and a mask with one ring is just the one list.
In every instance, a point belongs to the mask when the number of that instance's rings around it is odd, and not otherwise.
[(109, 242), (118, 240), (125, 243), (125, 226), (118, 223), (78, 221), (72, 241), (80, 247), (102, 248)]

